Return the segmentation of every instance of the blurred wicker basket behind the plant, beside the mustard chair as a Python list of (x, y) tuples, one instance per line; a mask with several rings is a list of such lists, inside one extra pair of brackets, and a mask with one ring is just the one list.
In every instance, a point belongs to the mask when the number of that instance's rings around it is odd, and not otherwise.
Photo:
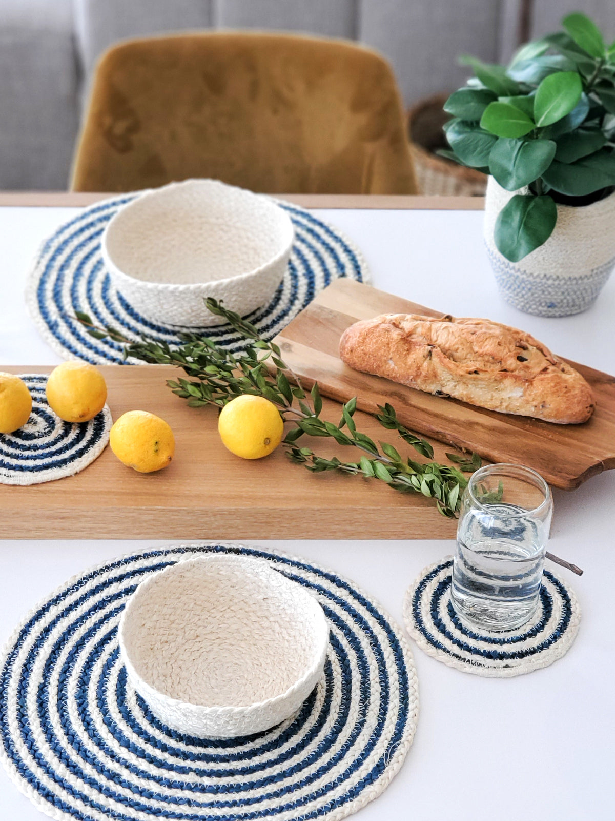
[(484, 196), (485, 174), (435, 154), (437, 149), (449, 148), (442, 131), (450, 118), (442, 108), (448, 96), (427, 97), (408, 112), (408, 137), (419, 190), (428, 195)]

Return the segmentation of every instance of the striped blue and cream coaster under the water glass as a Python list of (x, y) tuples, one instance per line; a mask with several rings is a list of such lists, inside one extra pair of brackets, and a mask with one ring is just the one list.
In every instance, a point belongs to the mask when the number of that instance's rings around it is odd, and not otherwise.
[(452, 558), (426, 567), (408, 588), (403, 620), (428, 656), (477, 676), (510, 677), (548, 667), (567, 653), (581, 621), (576, 596), (545, 570), (535, 617), (516, 631), (481, 630), (462, 621), (450, 600)]

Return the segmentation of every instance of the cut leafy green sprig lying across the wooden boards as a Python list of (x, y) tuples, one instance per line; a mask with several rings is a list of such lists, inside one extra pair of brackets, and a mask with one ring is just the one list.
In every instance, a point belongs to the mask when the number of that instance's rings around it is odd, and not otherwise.
[[(317, 383), (307, 392), (301, 379), (282, 360), (279, 346), (265, 342), (253, 324), (216, 300), (208, 299), (206, 305), (207, 310), (223, 317), (244, 339), (246, 344), (241, 354), (235, 355), (208, 337), (192, 333), (182, 334), (182, 344), (177, 347), (166, 342), (153, 342), (147, 337), (134, 342), (111, 326), (96, 326), (88, 314), (78, 313), (77, 319), (93, 337), (109, 337), (121, 343), (125, 359), (130, 356), (150, 364), (175, 365), (183, 369), (189, 378), (170, 379), (166, 384), (176, 396), (187, 400), (190, 407), (216, 405), (221, 408), (243, 394), (265, 397), (273, 402), (282, 419), (293, 424), (282, 442), (287, 456), (312, 473), (335, 471), (379, 479), (403, 493), (421, 493), (433, 499), (443, 516), (457, 516), (462, 490), (467, 487), (463, 473), (471, 473), (481, 466), (479, 456), (447, 453), (453, 464), (441, 465), (433, 461), (434, 451), (430, 443), (404, 427), (388, 403), (378, 406), (380, 413), (376, 420), (383, 428), (396, 431), (401, 441), (430, 461), (401, 456), (393, 445), (375, 443), (359, 431), (353, 419), (357, 410), (356, 397), (342, 406), (338, 424), (322, 419), (322, 399)], [(360, 452), (358, 461), (319, 456), (312, 447), (301, 446), (298, 440), (304, 435), (332, 438), (339, 445), (352, 447)]]

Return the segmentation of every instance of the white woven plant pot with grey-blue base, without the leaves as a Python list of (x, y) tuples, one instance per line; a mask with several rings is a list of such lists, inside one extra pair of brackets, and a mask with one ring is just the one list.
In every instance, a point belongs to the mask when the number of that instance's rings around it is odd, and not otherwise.
[(489, 178), (485, 201), (485, 245), (503, 298), (526, 314), (569, 316), (593, 305), (615, 267), (615, 192), (604, 200), (558, 205), (549, 239), (518, 263), (494, 243), (495, 220), (514, 194)]

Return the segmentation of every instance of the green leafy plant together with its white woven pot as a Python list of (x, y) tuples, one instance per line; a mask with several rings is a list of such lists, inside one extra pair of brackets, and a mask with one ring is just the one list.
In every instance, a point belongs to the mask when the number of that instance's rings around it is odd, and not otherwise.
[(444, 103), (444, 153), (490, 174), (499, 289), (530, 314), (585, 310), (615, 266), (615, 43), (574, 13), (508, 67), (462, 62), (475, 76)]

